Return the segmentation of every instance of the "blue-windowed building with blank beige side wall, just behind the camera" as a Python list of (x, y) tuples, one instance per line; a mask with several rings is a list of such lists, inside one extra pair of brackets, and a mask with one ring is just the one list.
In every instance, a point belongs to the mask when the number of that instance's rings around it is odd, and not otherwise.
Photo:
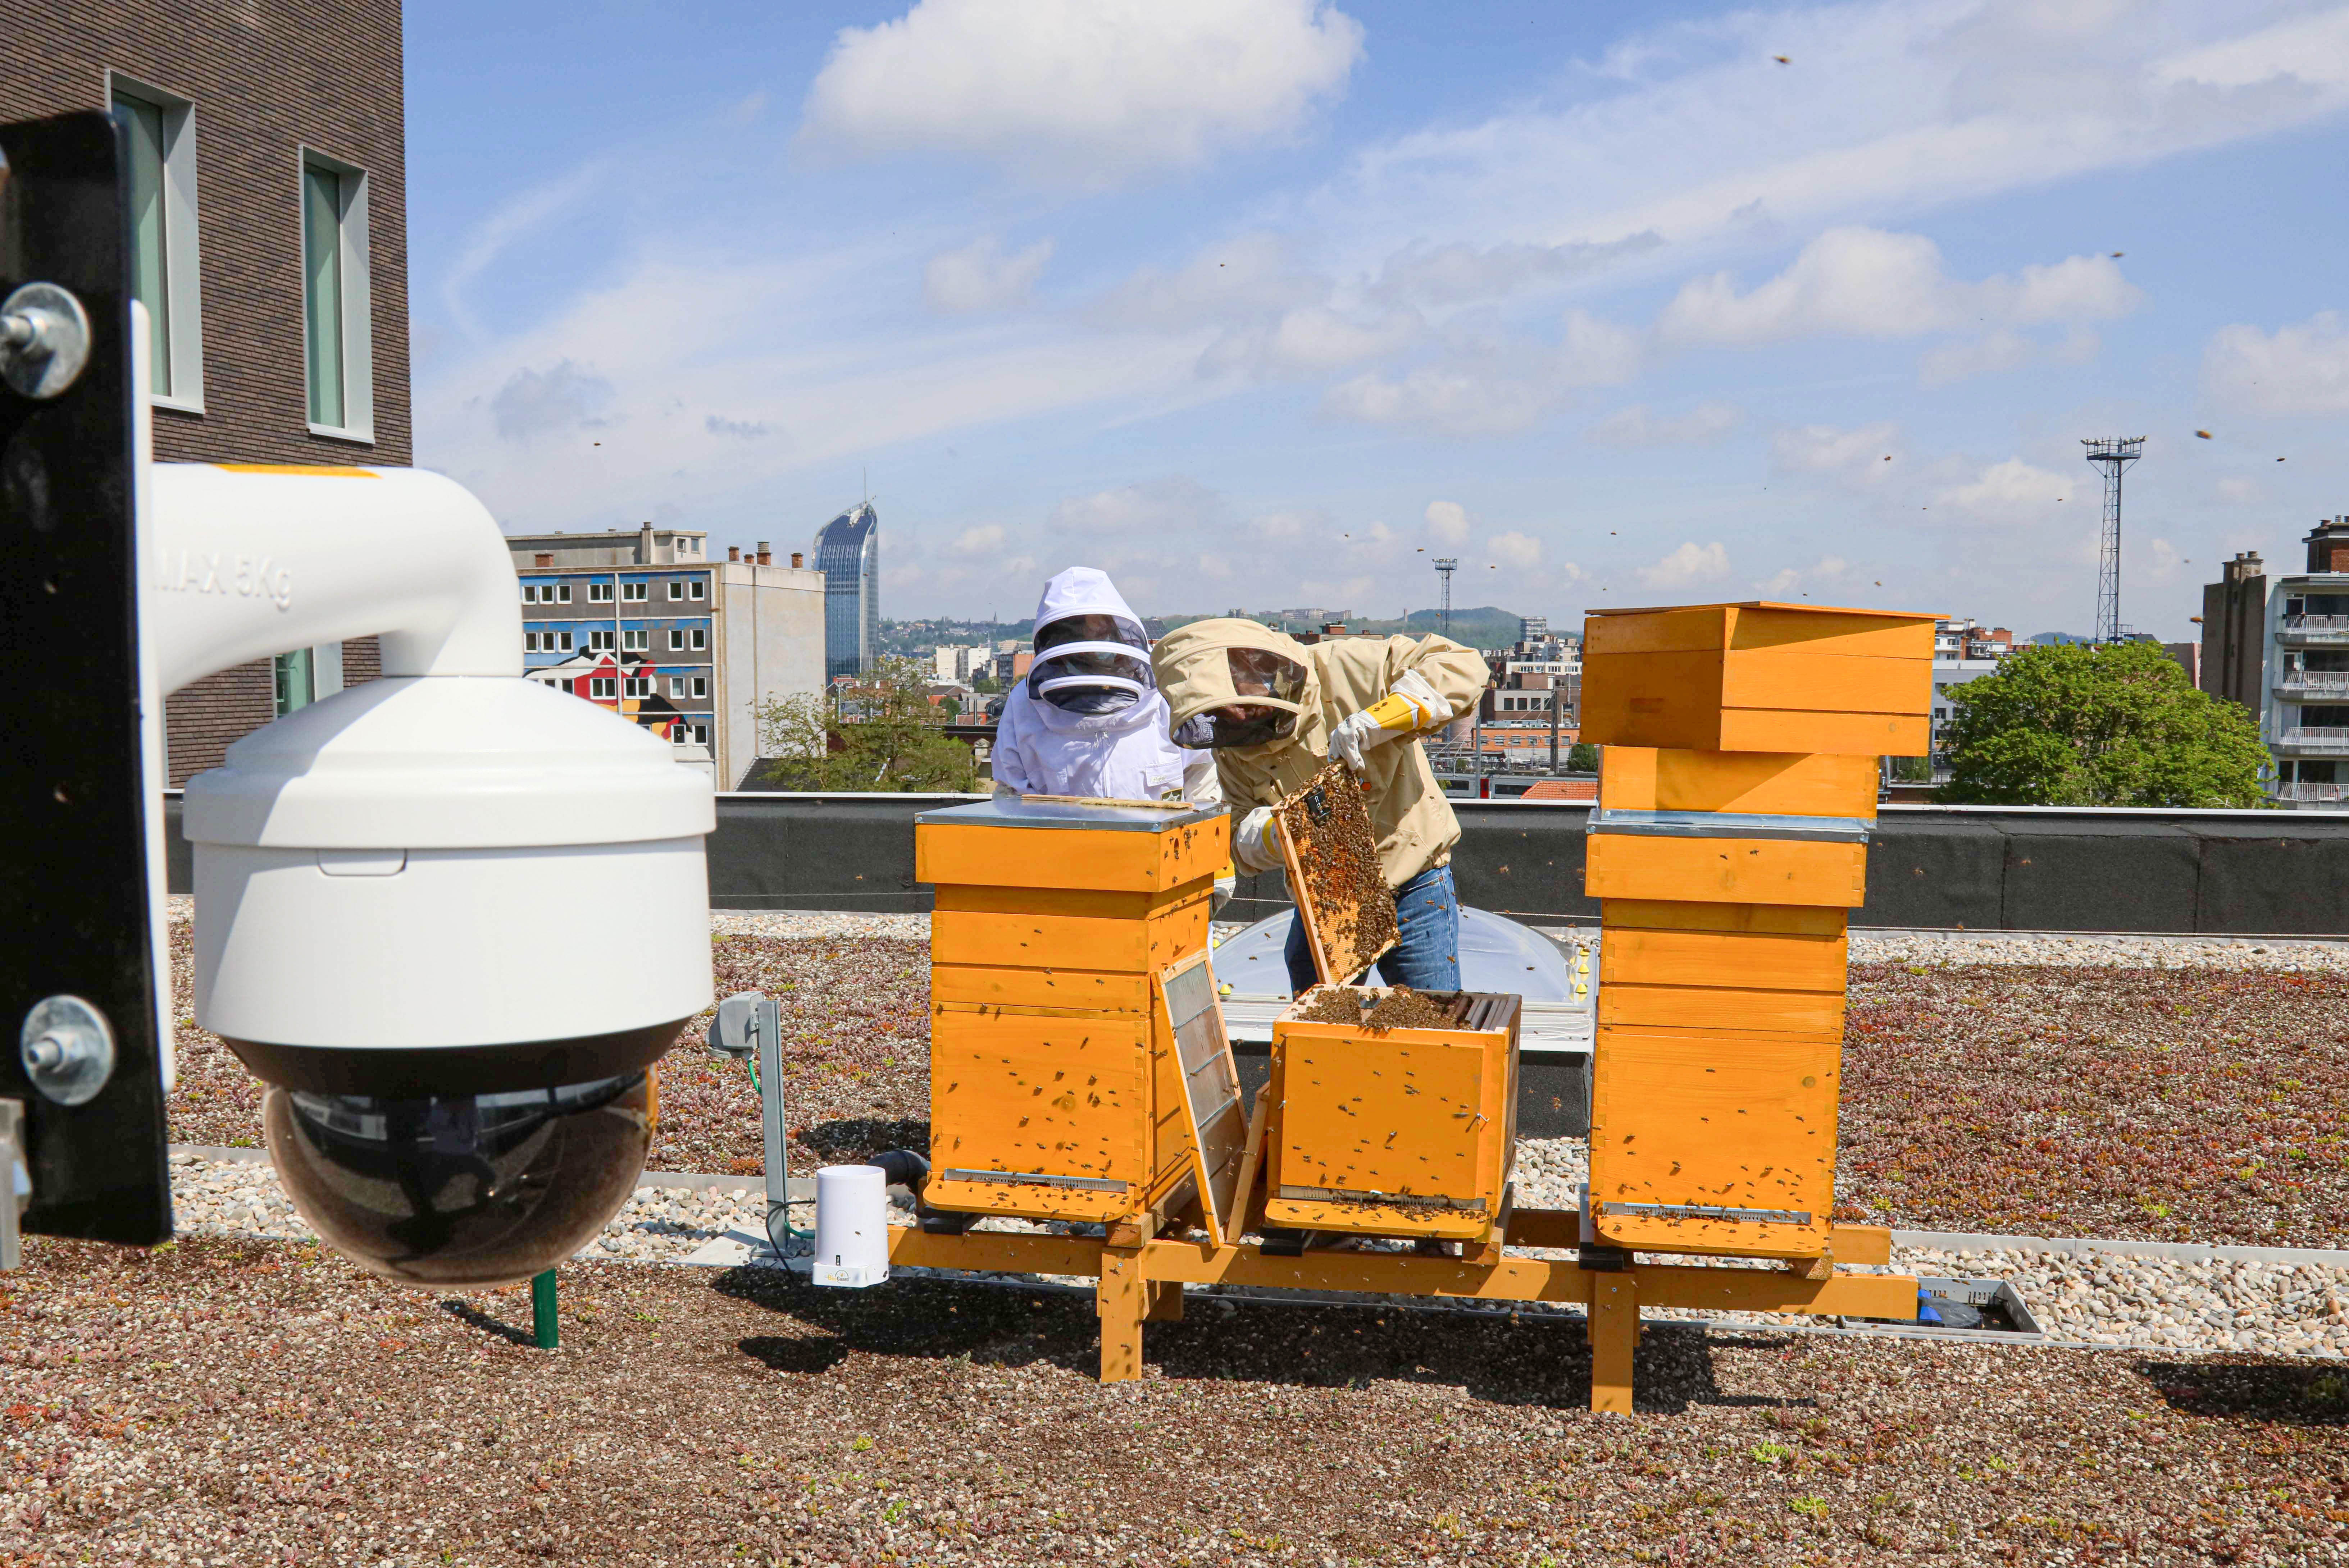
[(759, 707), (822, 690), (824, 575), (766, 542), (712, 561), (695, 528), (507, 535), (533, 681), (674, 746), (707, 746), (721, 789), (759, 761)]

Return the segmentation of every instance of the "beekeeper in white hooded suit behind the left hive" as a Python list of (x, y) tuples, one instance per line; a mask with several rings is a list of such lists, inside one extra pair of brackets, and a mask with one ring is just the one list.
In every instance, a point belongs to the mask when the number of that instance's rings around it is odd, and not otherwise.
[(1109, 573), (1043, 584), (1036, 660), (1003, 702), (996, 793), (1217, 803), (1214, 756), (1167, 739), (1151, 638)]

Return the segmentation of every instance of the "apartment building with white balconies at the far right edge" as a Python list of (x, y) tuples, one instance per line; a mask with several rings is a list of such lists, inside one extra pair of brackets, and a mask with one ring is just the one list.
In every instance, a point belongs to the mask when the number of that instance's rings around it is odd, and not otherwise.
[(2199, 685), (2260, 716), (2276, 805), (2337, 807), (2349, 800), (2349, 516), (2321, 519), (2302, 542), (2302, 573), (2269, 577), (2260, 556), (2239, 554), (2203, 589)]

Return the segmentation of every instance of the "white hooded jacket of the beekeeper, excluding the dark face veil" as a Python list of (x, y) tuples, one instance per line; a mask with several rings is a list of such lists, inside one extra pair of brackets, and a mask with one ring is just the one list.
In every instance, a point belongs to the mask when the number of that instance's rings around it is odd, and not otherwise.
[(1111, 714), (1071, 714), (1038, 697), (1034, 678), (1022, 678), (1005, 697), (996, 730), (996, 789), (1099, 800), (1221, 800), (1214, 753), (1167, 739), (1172, 725), (1167, 699), (1149, 674), (1149, 636), (1106, 573), (1071, 566), (1043, 584), (1036, 631), (1071, 615), (1113, 615), (1123, 622), (1146, 688)]

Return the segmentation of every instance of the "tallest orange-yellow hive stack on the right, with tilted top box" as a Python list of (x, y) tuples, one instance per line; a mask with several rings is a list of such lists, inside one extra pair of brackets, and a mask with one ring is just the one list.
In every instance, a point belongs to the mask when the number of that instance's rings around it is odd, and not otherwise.
[(1604, 746), (1590, 1214), (1637, 1251), (1820, 1258), (1835, 1209), (1846, 911), (1877, 758), (1929, 746), (1933, 615), (1788, 603), (1593, 613)]

